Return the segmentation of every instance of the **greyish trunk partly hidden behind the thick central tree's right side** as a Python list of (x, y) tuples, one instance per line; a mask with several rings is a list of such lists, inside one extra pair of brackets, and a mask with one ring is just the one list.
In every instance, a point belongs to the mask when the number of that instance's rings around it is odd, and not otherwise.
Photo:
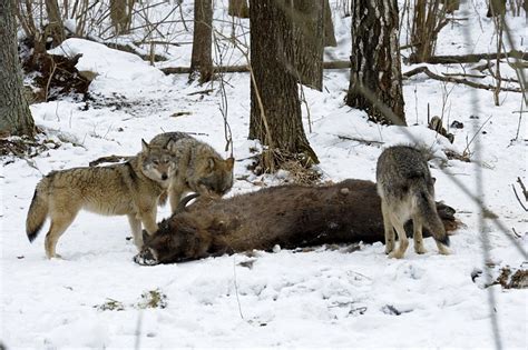
[(301, 83), (323, 90), (324, 0), (294, 0), (290, 18), (294, 30), (294, 60)]

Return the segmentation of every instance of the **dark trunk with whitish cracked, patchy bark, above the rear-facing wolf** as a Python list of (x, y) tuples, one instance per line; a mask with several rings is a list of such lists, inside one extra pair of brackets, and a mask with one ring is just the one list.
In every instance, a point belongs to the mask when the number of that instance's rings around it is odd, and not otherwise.
[[(346, 104), (366, 111), (370, 120), (387, 124), (405, 124), (398, 39), (397, 0), (352, 2), (352, 68)], [(380, 103), (395, 118), (383, 112)]]

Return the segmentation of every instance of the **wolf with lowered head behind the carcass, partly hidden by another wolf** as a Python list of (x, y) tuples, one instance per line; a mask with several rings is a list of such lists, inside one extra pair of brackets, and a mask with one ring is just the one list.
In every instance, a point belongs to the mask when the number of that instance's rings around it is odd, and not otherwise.
[[(198, 192), (205, 196), (223, 196), (233, 187), (234, 159), (224, 160), (213, 147), (185, 132), (165, 132), (150, 140), (151, 146), (162, 147), (170, 141), (170, 151), (176, 159), (176, 176), (170, 181), (168, 198), (173, 212), (186, 192)], [(90, 166), (101, 162), (116, 162), (129, 159), (127, 156), (99, 158)], [(160, 198), (165, 203), (167, 193)]]

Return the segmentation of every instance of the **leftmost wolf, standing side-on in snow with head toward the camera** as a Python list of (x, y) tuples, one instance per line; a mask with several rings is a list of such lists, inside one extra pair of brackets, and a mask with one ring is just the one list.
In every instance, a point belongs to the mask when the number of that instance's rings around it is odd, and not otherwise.
[(26, 219), (30, 241), (37, 238), (46, 218), (51, 224), (46, 234), (46, 256), (59, 257), (56, 246), (80, 209), (106, 216), (127, 216), (138, 249), (143, 246), (141, 223), (149, 234), (158, 226), (159, 196), (176, 173), (176, 162), (165, 144), (147, 144), (126, 163), (108, 167), (74, 168), (52, 171), (37, 184)]

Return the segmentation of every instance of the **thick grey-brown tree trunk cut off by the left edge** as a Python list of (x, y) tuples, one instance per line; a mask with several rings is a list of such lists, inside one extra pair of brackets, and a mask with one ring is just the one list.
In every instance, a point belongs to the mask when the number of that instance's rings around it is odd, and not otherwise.
[(32, 137), (35, 122), (23, 97), (18, 59), (16, 0), (0, 1), (0, 136)]

